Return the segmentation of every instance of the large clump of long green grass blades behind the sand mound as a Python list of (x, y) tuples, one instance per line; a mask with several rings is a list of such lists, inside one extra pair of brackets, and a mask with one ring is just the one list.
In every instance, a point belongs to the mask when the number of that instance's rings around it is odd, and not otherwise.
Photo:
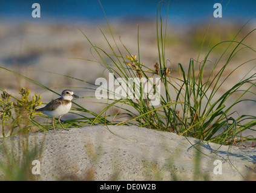
[[(235, 36), (232, 40), (220, 42), (213, 46), (205, 55), (202, 62), (191, 59), (188, 65), (188, 71), (185, 71), (184, 66), (178, 63), (177, 74), (179, 76), (174, 77), (171, 73), (172, 67), (168, 65), (168, 60), (166, 60), (165, 56), (167, 18), (164, 24), (161, 15), (162, 4), (163, 1), (160, 1), (159, 7), (157, 8), (156, 25), (159, 61), (155, 65), (152, 65), (151, 68), (140, 62), (139, 30), (137, 56), (133, 55), (125, 47), (121, 39), (119, 39), (119, 42), (125, 48), (126, 54), (120, 51), (121, 49), (111, 33), (109, 24), (108, 27), (113, 38), (114, 46), (111, 46), (110, 40), (107, 39), (103, 31), (102, 35), (105, 37), (110, 52), (93, 45), (90, 39), (82, 32), (91, 43), (92, 49), (99, 56), (100, 64), (105, 65), (106, 69), (114, 74), (114, 78), (122, 77), (128, 80), (129, 78), (137, 77), (141, 80), (136, 85), (139, 88), (138, 90), (141, 91), (136, 93), (137, 97), (134, 97), (134, 99), (119, 97), (118, 100), (108, 98), (108, 106), (102, 110), (94, 121), (97, 121), (100, 115), (107, 115), (107, 111), (111, 107), (118, 107), (120, 110), (117, 114), (122, 115), (122, 117), (125, 116), (128, 118), (128, 121), (119, 121), (116, 118), (117, 115), (115, 115), (111, 124), (134, 124), (140, 127), (172, 131), (182, 136), (190, 136), (226, 145), (255, 140), (254, 138), (247, 138), (240, 135), (242, 131), (254, 130), (256, 124), (255, 116), (240, 115), (235, 117), (236, 113), (233, 110), (238, 103), (245, 101), (255, 102), (255, 100), (246, 98), (249, 93), (255, 95), (253, 92), (255, 88), (255, 74), (249, 75), (248, 72), (241, 80), (238, 80), (236, 83), (234, 82), (231, 88), (225, 87), (225, 83), (234, 72), (243, 68), (246, 63), (255, 60), (241, 63), (241, 65), (230, 71), (232, 59), (234, 59), (238, 52), (243, 49), (249, 49), (249, 51), (255, 52), (254, 49), (245, 45), (243, 41), (256, 29), (250, 31), (241, 40), (236, 40), (235, 38), (237, 36)], [(212, 66), (212, 70), (209, 71), (207, 65), (209, 55), (211, 55), (211, 52), (215, 48), (223, 44), (228, 44), (228, 48), (220, 55)], [(228, 52), (230, 54), (224, 65), (220, 66), (220, 60), (223, 59), (223, 55), (229, 48), (231, 48), (231, 51), (229, 50)], [(111, 61), (111, 63), (108, 61)], [(207, 77), (205, 76), (206, 71), (208, 72)], [(156, 84), (151, 81), (152, 77), (160, 78), (163, 93), (157, 92)], [(156, 96), (160, 98), (159, 106), (150, 105), (151, 98), (146, 95), (147, 93), (143, 92), (142, 78), (144, 78), (144, 82), (150, 82), (153, 86)], [(216, 98), (215, 95), (217, 95), (220, 89), (225, 91), (221, 96)], [(113, 90), (110, 88), (108, 88), (107, 92), (109, 95), (113, 94)], [(176, 96), (173, 96), (172, 93), (176, 93)], [(227, 101), (234, 102), (228, 105)]]

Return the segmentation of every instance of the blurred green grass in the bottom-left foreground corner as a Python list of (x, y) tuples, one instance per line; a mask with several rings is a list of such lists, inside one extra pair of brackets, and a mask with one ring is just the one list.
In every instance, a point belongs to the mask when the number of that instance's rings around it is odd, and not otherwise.
[[(10, 141), (0, 145), (0, 180), (4, 181), (27, 181), (39, 180), (40, 176), (33, 174), (33, 160), (42, 159), (44, 141), (37, 144), (28, 140), (28, 134), (19, 134), (18, 140), (11, 138)], [(31, 144), (33, 143), (33, 144)]]

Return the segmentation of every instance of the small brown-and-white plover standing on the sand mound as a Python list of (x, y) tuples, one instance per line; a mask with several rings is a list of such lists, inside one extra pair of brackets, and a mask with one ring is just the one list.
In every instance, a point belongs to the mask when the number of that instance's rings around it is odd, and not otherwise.
[[(71, 109), (71, 100), (73, 98), (79, 98), (79, 96), (74, 95), (74, 92), (72, 90), (63, 90), (61, 93), (61, 98), (57, 98), (56, 100), (51, 101), (48, 103), (45, 107), (42, 107), (41, 109), (37, 109), (36, 112), (42, 112), (47, 116), (50, 116), (53, 118), (53, 130), (55, 131), (54, 127), (54, 120), (55, 118), (58, 118), (59, 124), (61, 124), (61, 117), (65, 114), (67, 114)], [(64, 130), (67, 130), (63, 127), (61, 124), (61, 127)]]

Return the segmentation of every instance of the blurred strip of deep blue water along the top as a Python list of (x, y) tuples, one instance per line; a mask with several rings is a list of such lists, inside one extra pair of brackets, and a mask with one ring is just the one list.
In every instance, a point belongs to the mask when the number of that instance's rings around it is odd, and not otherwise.
[[(31, 16), (33, 10), (31, 5), (35, 2), (41, 5), (41, 18)], [(127, 20), (156, 19), (159, 3), (158, 0), (101, 0), (100, 2), (108, 19)], [(223, 19), (246, 22), (256, 12), (255, 0), (231, 0), (230, 2), (228, 0), (171, 0), (168, 19), (177, 24), (192, 24), (205, 19), (209, 21), (216, 2), (222, 2)], [(166, 13), (166, 8), (162, 11)], [(92, 22), (104, 20), (105, 16), (98, 0), (1, 0), (0, 19), (36, 22)]]

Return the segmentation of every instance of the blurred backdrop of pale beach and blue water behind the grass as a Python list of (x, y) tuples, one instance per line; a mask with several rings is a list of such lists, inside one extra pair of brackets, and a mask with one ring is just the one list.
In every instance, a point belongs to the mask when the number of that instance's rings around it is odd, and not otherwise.
[[(34, 10), (31, 7), (33, 3), (38, 3), (41, 6), (40, 18), (31, 16)], [(122, 48), (122, 43), (131, 54), (138, 54), (137, 31), (139, 25), (140, 61), (153, 67), (154, 63), (159, 60), (156, 35), (157, 5), (159, 4), (157, 0), (0, 1), (0, 65), (38, 81), (59, 93), (68, 87), (79, 96), (94, 95), (94, 93), (85, 92), (80, 88), (87, 87), (88, 84), (48, 72), (68, 75), (91, 83), (95, 83), (96, 78), (102, 77), (104, 68), (99, 63), (88, 61), (95, 60), (95, 52), (91, 52), (90, 43), (77, 29), (80, 28), (84, 31), (94, 45), (109, 49), (99, 30), (100, 28), (111, 40), (100, 3), (123, 54), (127, 53)], [(197, 59), (210, 22), (211, 27), (199, 61), (203, 60), (205, 53), (212, 46), (225, 40), (234, 39), (240, 28), (249, 19), (252, 18), (238, 34), (236, 40), (241, 40), (255, 28), (256, 1), (218, 2), (222, 4), (222, 18), (212, 18), (215, 3), (217, 3), (215, 0), (170, 1), (166, 59), (171, 62), (173, 72), (177, 69), (177, 63), (186, 66), (189, 65), (191, 58)], [(168, 1), (163, 4), (168, 4)], [(163, 6), (161, 10), (163, 21), (166, 18), (166, 7), (166, 5)], [(217, 23), (217, 28), (215, 28)], [(119, 37), (122, 43), (120, 43)], [(255, 33), (252, 33), (244, 43), (255, 48), (255, 40)], [(113, 41), (111, 43), (114, 45)], [(212, 68), (212, 63), (220, 58), (225, 46), (220, 46), (212, 51), (209, 57), (209, 69)], [(231, 64), (238, 66), (254, 58), (254, 52), (241, 51)], [(225, 59), (224, 56), (223, 61)], [(234, 67), (232, 65), (231, 68)], [(246, 67), (235, 72), (235, 78), (242, 78), (254, 65), (254, 61), (249, 62)], [(228, 83), (232, 85), (234, 80), (227, 81), (227, 86)], [(7, 89), (13, 95), (18, 93), (21, 87), (27, 87), (31, 93), (41, 93), (44, 103), (57, 97), (54, 93), (44, 92), (45, 89), (42, 87), (3, 69), (0, 69), (0, 87)], [(222, 93), (219, 94), (222, 95)], [(92, 107), (89, 101), (87, 99), (79, 100), (79, 104), (88, 109), (91, 107), (95, 112), (102, 110), (100, 106)], [(245, 112), (248, 112), (249, 109), (254, 113), (254, 108), (255, 104), (252, 103), (243, 106)], [(243, 112), (243, 110), (241, 111)]]

